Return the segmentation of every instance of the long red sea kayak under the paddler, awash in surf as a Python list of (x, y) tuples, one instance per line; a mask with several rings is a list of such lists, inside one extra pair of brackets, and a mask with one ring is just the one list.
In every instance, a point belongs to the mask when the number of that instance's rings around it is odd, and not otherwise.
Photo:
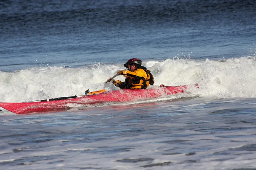
[[(182, 85), (148, 89), (102, 90), (79, 97), (60, 97), (56, 99), (41, 100), (40, 102), (0, 102), (0, 107), (16, 114), (52, 112), (67, 110), (70, 108), (70, 106), (68, 106), (69, 104), (93, 105), (102, 102), (133, 102), (153, 99), (161, 96), (183, 93), (187, 87), (187, 85)], [(196, 87), (198, 87), (198, 85), (196, 85)]]

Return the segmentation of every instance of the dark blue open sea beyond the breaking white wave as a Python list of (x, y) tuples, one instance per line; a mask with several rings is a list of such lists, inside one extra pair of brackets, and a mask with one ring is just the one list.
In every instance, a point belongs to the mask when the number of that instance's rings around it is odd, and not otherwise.
[[(0, 2), (0, 68), (255, 55), (253, 0)], [(192, 52), (192, 53), (191, 53)]]

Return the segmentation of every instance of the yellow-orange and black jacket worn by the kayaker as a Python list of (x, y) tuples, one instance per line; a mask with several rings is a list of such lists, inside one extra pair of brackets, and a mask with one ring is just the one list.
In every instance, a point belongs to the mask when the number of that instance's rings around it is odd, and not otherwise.
[(154, 77), (147, 68), (141, 66), (134, 71), (124, 70), (121, 73), (124, 75), (125, 82), (114, 80), (113, 84), (121, 89), (145, 89), (154, 84)]

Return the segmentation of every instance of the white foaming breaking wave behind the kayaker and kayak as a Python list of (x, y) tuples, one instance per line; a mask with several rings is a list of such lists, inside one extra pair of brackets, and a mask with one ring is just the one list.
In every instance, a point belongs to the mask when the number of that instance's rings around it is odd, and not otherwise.
[[(214, 61), (206, 59), (166, 59), (144, 62), (154, 75), (155, 85), (193, 85), (188, 92), (216, 98), (256, 97), (255, 57)], [(123, 65), (101, 65), (84, 68), (41, 67), (15, 72), (0, 72), (1, 102), (25, 102), (55, 97), (83, 95), (85, 90), (118, 89), (105, 81), (124, 69)], [(123, 76), (115, 79), (124, 81)]]

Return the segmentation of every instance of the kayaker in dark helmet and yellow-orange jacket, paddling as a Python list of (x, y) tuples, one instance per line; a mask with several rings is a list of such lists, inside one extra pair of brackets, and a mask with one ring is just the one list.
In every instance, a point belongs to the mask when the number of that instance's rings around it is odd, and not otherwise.
[(124, 82), (119, 80), (108, 79), (116, 87), (121, 89), (145, 89), (149, 85), (154, 85), (154, 77), (147, 68), (141, 66), (142, 61), (137, 58), (129, 59), (124, 66), (127, 70), (118, 71), (118, 75), (123, 75), (125, 78)]

